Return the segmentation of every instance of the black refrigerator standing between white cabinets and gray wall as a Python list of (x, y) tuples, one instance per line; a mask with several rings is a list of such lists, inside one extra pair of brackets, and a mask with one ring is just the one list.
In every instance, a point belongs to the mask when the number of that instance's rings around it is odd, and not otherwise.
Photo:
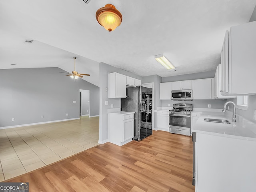
[(134, 138), (140, 141), (152, 134), (152, 88), (126, 88), (126, 99), (121, 99), (121, 111), (135, 112)]

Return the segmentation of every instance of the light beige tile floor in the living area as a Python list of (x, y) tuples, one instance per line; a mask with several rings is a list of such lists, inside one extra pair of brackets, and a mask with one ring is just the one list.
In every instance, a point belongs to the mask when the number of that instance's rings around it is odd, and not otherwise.
[(0, 181), (98, 145), (99, 117), (0, 130)]

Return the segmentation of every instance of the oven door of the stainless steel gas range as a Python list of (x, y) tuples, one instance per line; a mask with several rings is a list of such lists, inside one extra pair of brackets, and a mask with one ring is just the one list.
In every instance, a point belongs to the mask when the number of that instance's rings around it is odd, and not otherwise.
[(183, 114), (169, 114), (169, 126), (191, 127), (191, 116)]

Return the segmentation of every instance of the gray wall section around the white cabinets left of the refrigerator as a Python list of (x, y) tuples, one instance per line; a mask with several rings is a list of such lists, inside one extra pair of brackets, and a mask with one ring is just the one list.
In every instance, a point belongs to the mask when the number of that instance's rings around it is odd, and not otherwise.
[[(100, 130), (99, 130), (99, 142), (105, 142), (108, 139), (108, 109), (111, 108), (111, 104), (114, 108), (121, 107), (121, 99), (108, 98), (108, 92), (105, 88), (108, 88), (108, 74), (117, 72), (136, 79), (142, 80), (142, 77), (132, 74), (128, 71), (122, 70), (100, 62)], [(105, 101), (108, 101), (108, 105), (105, 105)]]

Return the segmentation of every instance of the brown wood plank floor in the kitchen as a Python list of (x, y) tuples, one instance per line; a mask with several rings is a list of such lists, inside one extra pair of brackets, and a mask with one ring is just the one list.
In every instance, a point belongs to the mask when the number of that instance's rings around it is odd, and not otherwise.
[(194, 192), (192, 138), (154, 131), (141, 142), (90, 148), (6, 182), (30, 192)]

